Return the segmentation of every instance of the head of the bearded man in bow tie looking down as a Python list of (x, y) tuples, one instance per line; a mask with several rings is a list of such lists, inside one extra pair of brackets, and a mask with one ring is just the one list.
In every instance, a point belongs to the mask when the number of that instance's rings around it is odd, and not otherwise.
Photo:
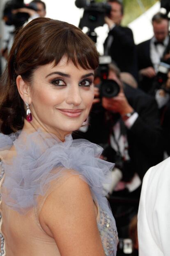
[(163, 42), (168, 35), (168, 17), (158, 12), (152, 18), (152, 25), (156, 40), (158, 42)]

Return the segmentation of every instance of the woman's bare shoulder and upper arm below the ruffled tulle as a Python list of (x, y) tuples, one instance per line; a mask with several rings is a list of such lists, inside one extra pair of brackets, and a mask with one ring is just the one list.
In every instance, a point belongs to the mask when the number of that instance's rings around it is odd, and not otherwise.
[(76, 171), (47, 197), (39, 221), (61, 255), (104, 256), (90, 187)]

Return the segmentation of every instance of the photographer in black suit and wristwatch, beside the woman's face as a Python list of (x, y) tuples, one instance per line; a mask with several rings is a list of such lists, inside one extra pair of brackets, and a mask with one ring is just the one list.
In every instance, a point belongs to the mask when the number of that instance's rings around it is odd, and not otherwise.
[(74, 136), (104, 146), (104, 157), (122, 168), (124, 181), (132, 181), (135, 173), (142, 181), (147, 169), (163, 159), (163, 135), (157, 104), (154, 97), (123, 84), (119, 70), (113, 64), (110, 64), (108, 79), (119, 84), (119, 94), (100, 100), (96, 88), (97, 98), (94, 99), (88, 129)]

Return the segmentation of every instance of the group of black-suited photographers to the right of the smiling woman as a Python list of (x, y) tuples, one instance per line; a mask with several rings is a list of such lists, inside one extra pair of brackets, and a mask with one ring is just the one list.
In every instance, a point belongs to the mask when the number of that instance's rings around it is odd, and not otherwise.
[[(96, 89), (86, 129), (83, 127), (73, 136), (101, 145), (103, 159), (115, 163), (109, 201), (119, 236), (129, 237), (131, 220), (138, 213), (143, 177), (170, 153), (169, 19), (161, 12), (156, 13), (152, 18), (154, 36), (135, 45), (131, 29), (121, 26), (122, 2), (108, 3), (112, 9), (105, 19), (109, 32), (104, 54), (111, 56), (112, 63), (108, 64), (107, 78), (117, 82), (120, 92), (107, 98), (101, 97)], [(124, 74), (132, 76), (137, 88)], [(97, 87), (100, 82), (96, 79)], [(142, 214), (143, 211), (142, 208)], [(143, 240), (144, 246), (147, 237)], [(118, 251), (117, 255), (124, 254)]]

